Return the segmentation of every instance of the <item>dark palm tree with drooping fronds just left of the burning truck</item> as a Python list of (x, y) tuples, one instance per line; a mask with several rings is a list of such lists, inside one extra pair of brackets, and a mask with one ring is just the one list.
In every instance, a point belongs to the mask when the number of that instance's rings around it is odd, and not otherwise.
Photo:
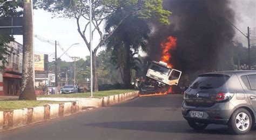
[[(123, 11), (125, 12), (125, 11)], [(110, 16), (105, 25), (105, 30), (109, 31), (116, 26), (122, 13)], [(151, 33), (151, 28), (146, 20), (138, 16), (127, 17), (117, 28), (117, 31), (107, 40), (106, 46), (108, 50), (112, 50), (115, 64), (118, 65), (120, 72), (123, 72), (125, 87), (131, 86), (131, 69), (134, 66), (131, 61), (134, 59), (133, 53), (138, 53), (139, 48), (147, 51), (147, 40)], [(131, 53), (132, 52), (132, 53)]]

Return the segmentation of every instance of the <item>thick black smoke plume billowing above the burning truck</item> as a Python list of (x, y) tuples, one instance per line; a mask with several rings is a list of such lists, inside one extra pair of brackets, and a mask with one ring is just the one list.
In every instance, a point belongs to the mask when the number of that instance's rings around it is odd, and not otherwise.
[[(225, 70), (228, 49), (234, 28), (225, 20), (234, 21), (234, 11), (227, 0), (164, 0), (170, 10), (170, 26), (154, 25), (149, 48), (150, 60), (160, 60), (160, 43), (169, 35), (175, 36), (177, 49), (172, 51), (174, 68), (185, 73)], [(230, 64), (230, 63), (228, 63)]]

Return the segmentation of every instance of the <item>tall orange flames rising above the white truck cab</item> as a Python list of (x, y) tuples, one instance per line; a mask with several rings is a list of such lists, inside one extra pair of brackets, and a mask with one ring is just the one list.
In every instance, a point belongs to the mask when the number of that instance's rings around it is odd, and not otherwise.
[(173, 36), (169, 36), (167, 39), (161, 42), (161, 49), (163, 49), (161, 61), (167, 63), (169, 67), (173, 67), (173, 65), (170, 63), (170, 50), (176, 49), (176, 42), (177, 38), (174, 38)]

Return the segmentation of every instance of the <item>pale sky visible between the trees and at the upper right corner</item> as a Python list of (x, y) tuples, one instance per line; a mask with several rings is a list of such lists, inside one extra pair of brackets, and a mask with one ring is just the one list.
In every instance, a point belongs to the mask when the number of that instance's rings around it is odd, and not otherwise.
[[(256, 0), (230, 0), (230, 7), (235, 12), (235, 26), (237, 26), (244, 34), (247, 33), (247, 26), (252, 28), (252, 43), (256, 43)], [(90, 55), (90, 51), (85, 46), (85, 43), (79, 33), (77, 32), (77, 25), (75, 19), (70, 18), (52, 18), (52, 14), (44, 10), (33, 11), (33, 30), (34, 34), (41, 36), (45, 40), (54, 42), (57, 40), (60, 46), (64, 50), (68, 49), (73, 43), (79, 43), (79, 45), (72, 46), (67, 53), (69, 56), (76, 56), (85, 58)], [(84, 25), (85, 20), (80, 21), (81, 25)], [(102, 27), (103, 28), (103, 27)], [(234, 37), (235, 41), (242, 42), (244, 46), (247, 46), (247, 40), (240, 32), (236, 30)], [(89, 37), (89, 31), (86, 32)], [(22, 43), (22, 35), (15, 36), (16, 41)], [(93, 48), (98, 44), (99, 36), (93, 37)], [(55, 46), (48, 43), (34, 39), (35, 54), (49, 54), (49, 61), (53, 61)], [(98, 50), (103, 50), (101, 48)], [(57, 57), (63, 54), (63, 50), (57, 47)], [(62, 60), (72, 61), (72, 59), (65, 54), (62, 55)]]

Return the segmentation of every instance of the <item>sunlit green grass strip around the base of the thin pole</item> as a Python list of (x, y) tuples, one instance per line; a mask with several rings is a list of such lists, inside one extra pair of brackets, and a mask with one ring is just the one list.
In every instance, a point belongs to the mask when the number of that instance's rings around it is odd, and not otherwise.
[[(93, 98), (101, 98), (110, 95), (122, 94), (127, 92), (134, 92), (136, 90), (110, 90), (93, 92)], [(72, 93), (72, 94), (53, 94), (53, 95), (40, 95), (38, 97), (51, 97), (51, 98), (89, 98), (90, 92), (86, 93)]]

